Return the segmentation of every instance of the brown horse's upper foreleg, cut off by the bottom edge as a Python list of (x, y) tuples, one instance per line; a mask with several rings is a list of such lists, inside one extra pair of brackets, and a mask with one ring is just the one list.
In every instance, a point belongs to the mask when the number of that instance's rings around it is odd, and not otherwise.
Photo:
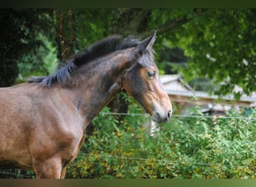
[(34, 160), (33, 168), (38, 179), (60, 179), (62, 177), (60, 158), (51, 158), (46, 161)]

